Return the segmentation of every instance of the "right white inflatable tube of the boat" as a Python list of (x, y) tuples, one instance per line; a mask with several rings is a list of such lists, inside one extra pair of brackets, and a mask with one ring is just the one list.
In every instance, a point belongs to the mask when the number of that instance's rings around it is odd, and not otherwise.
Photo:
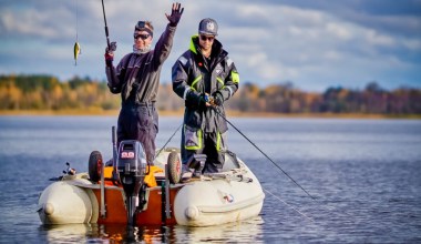
[(184, 186), (176, 195), (175, 218), (177, 224), (187, 226), (243, 221), (260, 213), (264, 197), (253, 185), (224, 180), (197, 182)]

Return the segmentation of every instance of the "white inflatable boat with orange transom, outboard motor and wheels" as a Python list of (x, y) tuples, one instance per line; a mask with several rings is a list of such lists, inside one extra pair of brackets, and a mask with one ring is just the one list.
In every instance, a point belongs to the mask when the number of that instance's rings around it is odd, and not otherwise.
[[(115, 155), (116, 154), (116, 155)], [(265, 194), (258, 179), (234, 153), (226, 152), (218, 173), (202, 173), (206, 156), (181, 164), (178, 149), (157, 152), (147, 165), (137, 141), (123, 141), (105, 165), (91, 153), (89, 171), (68, 173), (40, 194), (43, 224), (125, 223), (210, 226), (257, 216)]]

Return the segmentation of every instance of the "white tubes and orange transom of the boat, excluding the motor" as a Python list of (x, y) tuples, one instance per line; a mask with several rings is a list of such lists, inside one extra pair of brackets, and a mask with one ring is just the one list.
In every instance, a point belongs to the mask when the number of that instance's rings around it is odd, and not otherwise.
[[(155, 165), (165, 169), (168, 152), (162, 154)], [(229, 167), (229, 163), (226, 166)], [(165, 214), (165, 189), (162, 186), (165, 179), (156, 175), (158, 184), (146, 187), (146, 202), (137, 210), (135, 223), (209, 226), (257, 216), (265, 197), (259, 181), (239, 160), (232, 167), (222, 174), (171, 184), (168, 215)], [(43, 224), (127, 223), (123, 187), (105, 181), (103, 197), (105, 205), (101, 206), (100, 184), (89, 181), (86, 173), (66, 175), (42, 192), (38, 212)]]

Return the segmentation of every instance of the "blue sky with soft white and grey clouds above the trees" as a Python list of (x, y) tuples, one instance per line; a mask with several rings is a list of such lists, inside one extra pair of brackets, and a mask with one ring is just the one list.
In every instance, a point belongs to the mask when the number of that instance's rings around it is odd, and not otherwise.
[[(240, 82), (265, 88), (291, 82), (305, 91), (421, 88), (421, 0), (185, 0), (161, 81), (188, 49), (198, 22), (213, 18)], [(167, 0), (104, 0), (116, 64), (132, 51), (138, 20), (154, 42), (171, 13)], [(73, 45), (82, 53), (74, 65)], [(101, 0), (1, 0), (0, 74), (75, 75), (105, 80)]]

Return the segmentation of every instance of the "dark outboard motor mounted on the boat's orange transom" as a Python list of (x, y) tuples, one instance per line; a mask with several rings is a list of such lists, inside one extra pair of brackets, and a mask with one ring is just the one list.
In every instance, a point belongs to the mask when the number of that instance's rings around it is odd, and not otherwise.
[(138, 206), (138, 191), (143, 185), (147, 163), (142, 144), (130, 140), (120, 143), (117, 156), (117, 172), (123, 184), (127, 205), (127, 224), (135, 222), (135, 212)]

